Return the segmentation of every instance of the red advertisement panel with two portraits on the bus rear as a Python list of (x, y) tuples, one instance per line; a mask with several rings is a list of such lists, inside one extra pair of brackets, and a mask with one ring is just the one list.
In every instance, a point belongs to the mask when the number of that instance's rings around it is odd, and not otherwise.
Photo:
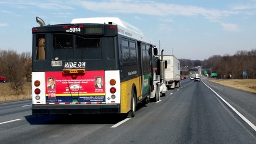
[[(78, 74), (63, 74), (62, 71), (46, 72), (46, 103), (105, 102), (104, 71), (86, 71)], [(97, 84), (99, 83), (99, 84)]]

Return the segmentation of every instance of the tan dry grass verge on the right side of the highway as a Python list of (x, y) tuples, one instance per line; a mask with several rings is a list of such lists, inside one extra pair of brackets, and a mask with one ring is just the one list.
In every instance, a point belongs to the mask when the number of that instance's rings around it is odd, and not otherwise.
[(209, 81), (228, 86), (230, 88), (256, 93), (256, 79), (214, 79)]

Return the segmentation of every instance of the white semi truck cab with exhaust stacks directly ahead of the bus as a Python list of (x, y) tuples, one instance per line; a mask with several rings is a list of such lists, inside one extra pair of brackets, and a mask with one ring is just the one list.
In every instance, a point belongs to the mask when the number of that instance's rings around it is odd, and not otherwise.
[[(157, 51), (157, 48), (154, 49)], [(150, 93), (150, 99), (153, 101), (159, 101), (160, 96), (165, 96), (168, 91), (165, 85), (165, 69), (167, 69), (167, 61), (163, 60), (163, 52), (160, 56), (153, 57), (153, 90)]]

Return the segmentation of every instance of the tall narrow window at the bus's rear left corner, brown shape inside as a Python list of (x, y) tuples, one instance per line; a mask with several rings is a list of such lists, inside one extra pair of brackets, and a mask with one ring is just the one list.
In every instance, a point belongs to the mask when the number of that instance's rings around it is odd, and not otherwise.
[(37, 36), (37, 50), (36, 59), (44, 60), (46, 59), (46, 38), (45, 35)]

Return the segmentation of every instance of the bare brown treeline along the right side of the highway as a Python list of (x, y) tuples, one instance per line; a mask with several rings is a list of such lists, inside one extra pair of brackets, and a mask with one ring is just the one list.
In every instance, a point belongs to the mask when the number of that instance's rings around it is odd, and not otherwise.
[[(237, 51), (234, 55), (213, 55), (202, 61), (180, 59), (180, 66), (212, 69), (212, 73), (217, 73), (218, 78), (256, 79), (256, 48), (251, 51)], [(243, 71), (246, 71), (246, 76)]]

